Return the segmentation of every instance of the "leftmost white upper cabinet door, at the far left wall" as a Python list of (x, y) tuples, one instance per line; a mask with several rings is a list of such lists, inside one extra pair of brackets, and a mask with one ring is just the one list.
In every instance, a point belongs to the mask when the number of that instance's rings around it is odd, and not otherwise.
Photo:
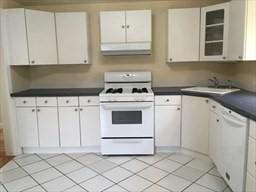
[(24, 9), (6, 10), (10, 65), (29, 65)]

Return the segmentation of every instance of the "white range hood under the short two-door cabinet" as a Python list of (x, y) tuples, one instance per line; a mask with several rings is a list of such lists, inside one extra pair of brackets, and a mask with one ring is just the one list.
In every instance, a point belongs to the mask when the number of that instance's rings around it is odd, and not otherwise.
[(151, 42), (101, 44), (103, 55), (150, 55), (151, 51)]

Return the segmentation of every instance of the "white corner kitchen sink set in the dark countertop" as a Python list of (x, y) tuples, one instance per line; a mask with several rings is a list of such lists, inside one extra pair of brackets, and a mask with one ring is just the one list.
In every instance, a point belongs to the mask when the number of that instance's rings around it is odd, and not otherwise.
[(219, 95), (225, 95), (228, 93), (240, 91), (240, 89), (237, 88), (226, 88), (226, 87), (220, 87), (220, 88), (215, 88), (215, 87), (190, 87), (190, 88), (185, 88), (181, 89), (182, 91), (187, 91), (187, 92), (198, 92), (198, 93), (212, 93), (212, 94), (219, 94)]

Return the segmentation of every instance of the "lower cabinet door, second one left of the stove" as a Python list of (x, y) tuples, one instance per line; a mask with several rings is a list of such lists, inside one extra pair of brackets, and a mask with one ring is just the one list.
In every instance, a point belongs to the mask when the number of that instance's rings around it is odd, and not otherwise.
[(59, 107), (60, 146), (80, 146), (79, 111), (77, 107)]

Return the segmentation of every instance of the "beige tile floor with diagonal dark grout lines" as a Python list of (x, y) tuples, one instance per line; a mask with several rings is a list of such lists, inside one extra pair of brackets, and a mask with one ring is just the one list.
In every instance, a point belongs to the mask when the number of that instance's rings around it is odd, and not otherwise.
[(20, 155), (0, 169), (0, 191), (231, 191), (214, 164), (183, 153), (154, 156)]

